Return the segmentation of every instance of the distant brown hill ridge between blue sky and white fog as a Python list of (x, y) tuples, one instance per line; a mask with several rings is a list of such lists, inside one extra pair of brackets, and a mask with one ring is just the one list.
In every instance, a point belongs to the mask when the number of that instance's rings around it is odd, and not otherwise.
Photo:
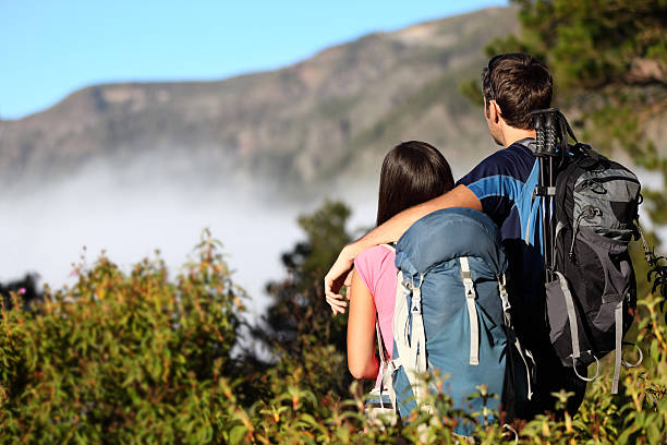
[(435, 144), (462, 171), (492, 143), (459, 82), (478, 76), (484, 46), (518, 29), (516, 15), (487, 9), (371, 34), (219, 82), (86, 87), (0, 121), (0, 181), (44, 184), (104, 165), (122, 180), (262, 179), (296, 190), (376, 176), (384, 154), (411, 139)]

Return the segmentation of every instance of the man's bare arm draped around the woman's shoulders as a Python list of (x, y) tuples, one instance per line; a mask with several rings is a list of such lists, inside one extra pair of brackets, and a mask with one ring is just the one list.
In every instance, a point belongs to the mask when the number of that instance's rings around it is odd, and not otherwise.
[(338, 255), (336, 263), (329, 269), (329, 273), (325, 276), (325, 296), (327, 302), (331, 305), (333, 314), (345, 312), (344, 308), (348, 303), (338, 292), (350, 273), (356, 255), (374, 245), (398, 241), (417, 219), (441, 208), (449, 207), (470, 207), (482, 211), (482, 203), (469, 188), (458, 185), (441, 196), (401, 212), (366, 233), (363, 238), (345, 245)]

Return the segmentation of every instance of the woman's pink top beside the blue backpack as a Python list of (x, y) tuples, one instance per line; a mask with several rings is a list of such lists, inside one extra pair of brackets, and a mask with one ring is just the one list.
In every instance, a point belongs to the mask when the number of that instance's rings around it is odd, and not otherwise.
[[(354, 268), (373, 296), (385, 349), (391, 359), (393, 351), (393, 306), (396, 305), (396, 254), (384, 245), (366, 249), (354, 260)], [(381, 370), (380, 370), (381, 374)], [(379, 386), (381, 375), (377, 376)]]

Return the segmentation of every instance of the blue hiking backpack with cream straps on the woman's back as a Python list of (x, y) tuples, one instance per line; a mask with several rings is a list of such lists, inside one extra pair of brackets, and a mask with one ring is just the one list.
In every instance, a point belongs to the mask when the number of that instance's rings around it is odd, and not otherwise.
[[(512, 419), (531, 398), (534, 362), (512, 329), (496, 225), (472, 208), (435, 212), (398, 241), (396, 266), (393, 360), (385, 361), (380, 349), (383, 389), (393, 410), (405, 419), (427, 390), (437, 392), (423, 378), (437, 371), (449, 375), (441, 390), (453, 409), (480, 413), (480, 423), (495, 421), (482, 414), (493, 410)], [(480, 385), (499, 398), (471, 399)], [(470, 435), (473, 428), (460, 421), (454, 432)]]

